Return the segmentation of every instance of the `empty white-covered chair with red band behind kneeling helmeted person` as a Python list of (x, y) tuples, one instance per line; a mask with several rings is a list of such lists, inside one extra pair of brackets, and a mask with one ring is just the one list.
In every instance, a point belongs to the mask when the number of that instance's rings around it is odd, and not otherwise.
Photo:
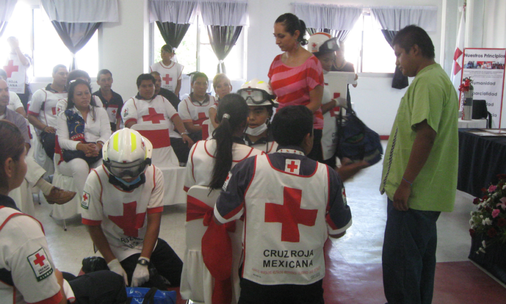
[(165, 124), (136, 124), (132, 126), (132, 129), (153, 144), (151, 162), (163, 173), (163, 204), (184, 204), (186, 192), (183, 188), (186, 170), (179, 166), (178, 157), (170, 145), (168, 126)]

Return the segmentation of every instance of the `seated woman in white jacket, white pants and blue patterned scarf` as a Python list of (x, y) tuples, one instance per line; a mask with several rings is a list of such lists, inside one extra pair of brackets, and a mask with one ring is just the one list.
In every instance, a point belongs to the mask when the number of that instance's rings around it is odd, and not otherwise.
[(62, 150), (58, 168), (61, 174), (73, 177), (75, 189), (82, 195), (88, 173), (102, 163), (102, 145), (111, 136), (107, 112), (95, 104), (87, 81), (78, 79), (70, 84), (56, 135)]

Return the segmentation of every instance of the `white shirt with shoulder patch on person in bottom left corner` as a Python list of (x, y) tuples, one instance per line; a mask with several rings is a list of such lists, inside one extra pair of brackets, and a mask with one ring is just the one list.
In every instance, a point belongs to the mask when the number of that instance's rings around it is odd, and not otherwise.
[(9, 272), (0, 275), (0, 302), (59, 303), (62, 294), (42, 224), (0, 206), (0, 227), (0, 269)]

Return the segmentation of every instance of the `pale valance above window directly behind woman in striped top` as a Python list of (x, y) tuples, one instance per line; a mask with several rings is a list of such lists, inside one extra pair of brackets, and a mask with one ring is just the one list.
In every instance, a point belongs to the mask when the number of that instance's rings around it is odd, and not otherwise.
[(362, 7), (330, 4), (293, 3), (295, 14), (306, 27), (352, 30)]

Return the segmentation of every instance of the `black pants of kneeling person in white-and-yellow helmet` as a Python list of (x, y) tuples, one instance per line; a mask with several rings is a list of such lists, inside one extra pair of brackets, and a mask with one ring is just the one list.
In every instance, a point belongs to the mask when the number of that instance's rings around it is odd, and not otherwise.
[[(131, 256), (122, 260), (121, 267), (128, 276), (129, 285), (132, 283), (132, 276), (134, 275), (135, 268), (137, 267), (137, 260), (141, 256), (140, 253), (132, 254)], [(181, 284), (181, 272), (183, 271), (183, 261), (174, 252), (174, 250), (162, 239), (158, 239), (153, 253), (151, 253), (150, 267), (154, 267), (158, 274), (167, 281), (170, 287), (178, 287)], [(140, 287), (153, 287), (149, 281)]]

